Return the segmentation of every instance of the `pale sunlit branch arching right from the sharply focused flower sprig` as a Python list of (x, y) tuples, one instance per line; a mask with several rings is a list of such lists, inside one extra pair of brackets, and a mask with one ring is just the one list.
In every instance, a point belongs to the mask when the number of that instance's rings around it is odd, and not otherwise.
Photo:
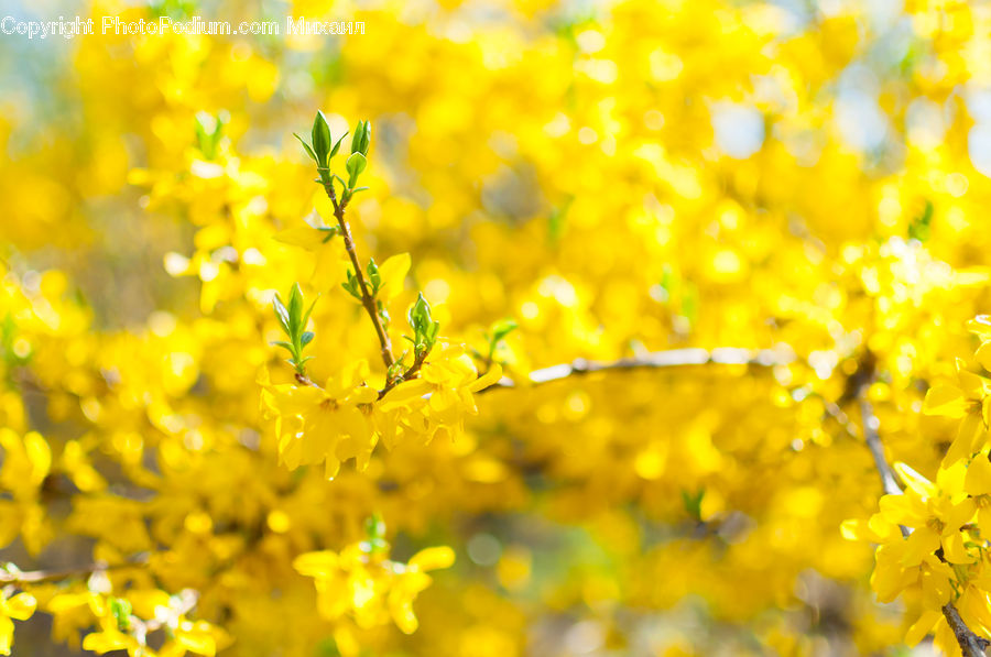
[[(576, 359), (570, 363), (562, 363), (559, 365), (533, 370), (526, 375), (523, 385), (543, 385), (545, 383), (563, 381), (570, 376), (580, 376), (592, 372), (686, 368), (707, 364), (772, 368), (775, 365), (786, 365), (794, 361), (795, 354), (787, 349), (741, 349), (736, 347), (718, 347), (716, 349), (669, 349), (666, 351), (654, 351), (639, 357), (621, 358), (614, 361)], [(503, 376), (480, 392), (519, 386), (520, 384), (512, 379)]]

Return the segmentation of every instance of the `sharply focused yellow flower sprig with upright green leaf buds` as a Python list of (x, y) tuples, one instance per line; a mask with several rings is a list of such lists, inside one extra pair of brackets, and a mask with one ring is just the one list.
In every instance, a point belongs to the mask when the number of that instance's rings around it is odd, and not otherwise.
[[(317, 183), (327, 193), (337, 225), (327, 227), (320, 221), (317, 226), (291, 228), (277, 239), (313, 253), (317, 262), (314, 275), (322, 269), (320, 263), (328, 261), (342, 267), (346, 282), (341, 287), (363, 306), (378, 332), (388, 368), (384, 387), (380, 391), (371, 385), (368, 362), (362, 359), (346, 361), (322, 385), (306, 376), (305, 363), (313, 357), (304, 357), (302, 352), (315, 338), (315, 331), (307, 330), (313, 305), (304, 313), (298, 285), (293, 286), (287, 303), (277, 295), (274, 299), (276, 317), (288, 339), (277, 344), (292, 354), (288, 362), (295, 368), (295, 380), (273, 384), (268, 370), (259, 380), (264, 412), (275, 421), (282, 462), (290, 469), (323, 463), (328, 479), (336, 477), (340, 463), (348, 459), (355, 459), (358, 470), (367, 468), (380, 438), (391, 449), (400, 440), (426, 445), (437, 435), (455, 438), (462, 432), (465, 417), (478, 413), (472, 393), (501, 376), (502, 370), (491, 361), (491, 354), (496, 343), (512, 330), (493, 331), (488, 370), (479, 375), (464, 346), (438, 341), (439, 322), (433, 319), (431, 306), (421, 294), (407, 314), (413, 336), (405, 338), (413, 347), (412, 363), (404, 364), (409, 352), (399, 360), (394, 358), (388, 332), (389, 306), (403, 289), (410, 256), (394, 255), (381, 265), (369, 260), (362, 272), (351, 229), (345, 220), (348, 201), (362, 189), (356, 183), (367, 166), (370, 134), (369, 122), (359, 122), (348, 158), (347, 182), (329, 173), (329, 162), (344, 135), (330, 146), (329, 127), (322, 112), (314, 120), (312, 146), (296, 135), (317, 164)], [(337, 236), (344, 240), (353, 267), (327, 252), (327, 243)]]

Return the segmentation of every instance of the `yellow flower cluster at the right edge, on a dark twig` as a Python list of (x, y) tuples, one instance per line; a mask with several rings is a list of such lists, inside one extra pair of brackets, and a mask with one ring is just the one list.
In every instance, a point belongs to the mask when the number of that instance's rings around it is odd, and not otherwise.
[(923, 406), (926, 415), (958, 420), (935, 480), (895, 463), (904, 492), (881, 497), (869, 522), (843, 525), (851, 539), (879, 544), (871, 577), (878, 599), (917, 601), (906, 643), (915, 645), (932, 632), (948, 654), (960, 647), (944, 615), (947, 604), (972, 631), (991, 635), (991, 324), (980, 316), (968, 328), (980, 339), (974, 360), (983, 371), (957, 359), (956, 383), (930, 387)]

